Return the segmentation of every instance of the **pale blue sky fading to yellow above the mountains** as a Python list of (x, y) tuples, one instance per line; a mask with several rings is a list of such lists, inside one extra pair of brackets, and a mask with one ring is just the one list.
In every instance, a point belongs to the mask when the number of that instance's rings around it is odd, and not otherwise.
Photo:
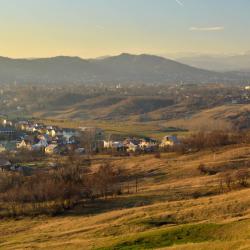
[(0, 55), (250, 51), (249, 0), (0, 0)]

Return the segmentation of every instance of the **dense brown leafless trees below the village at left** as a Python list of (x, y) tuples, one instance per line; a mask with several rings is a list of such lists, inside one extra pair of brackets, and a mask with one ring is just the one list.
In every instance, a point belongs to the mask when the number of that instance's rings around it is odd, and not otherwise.
[(23, 208), (33, 204), (31, 210), (37, 211), (32, 213), (40, 214), (40, 208), (54, 213), (73, 208), (80, 201), (119, 195), (125, 179), (125, 172), (110, 164), (94, 172), (89, 166), (71, 163), (31, 176), (8, 173), (0, 176), (0, 202), (10, 205), (8, 212), (12, 215), (18, 214), (15, 208), (20, 204)]

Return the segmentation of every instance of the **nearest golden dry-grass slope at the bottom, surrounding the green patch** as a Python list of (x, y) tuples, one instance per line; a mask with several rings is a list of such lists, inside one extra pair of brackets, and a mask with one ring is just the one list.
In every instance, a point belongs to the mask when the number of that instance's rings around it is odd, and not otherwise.
[[(92, 249), (106, 246), (107, 249), (111, 249), (111, 246), (126, 241), (131, 243), (140, 237), (147, 238), (147, 235), (159, 235), (162, 232), (182, 228), (182, 223), (188, 223), (192, 227), (200, 222), (205, 228), (204, 232), (200, 229), (200, 234), (210, 234), (206, 231), (206, 226), (210, 223), (219, 225), (219, 228), (222, 225), (223, 229), (212, 239), (216, 241), (214, 243), (208, 243), (207, 241), (211, 240), (205, 237), (202, 249), (215, 249), (213, 246), (235, 246), (234, 249), (244, 246), (247, 249), (250, 245), (248, 193), (249, 190), (243, 190), (222, 196), (158, 203), (93, 216), (1, 221), (0, 248)], [(242, 206), (246, 209), (242, 210)], [(192, 242), (197, 243), (195, 239), (193, 241), (191, 239), (190, 243)], [(199, 249), (200, 244), (191, 244), (189, 247)], [(177, 249), (182, 248), (180, 246)]]

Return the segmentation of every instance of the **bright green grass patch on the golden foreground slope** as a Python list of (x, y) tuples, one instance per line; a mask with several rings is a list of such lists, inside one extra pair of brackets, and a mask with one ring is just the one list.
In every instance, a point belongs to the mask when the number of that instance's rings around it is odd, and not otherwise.
[(176, 244), (201, 243), (218, 240), (216, 232), (224, 225), (196, 224), (173, 229), (143, 233), (141, 236), (120, 242), (100, 250), (138, 250), (169, 247)]

